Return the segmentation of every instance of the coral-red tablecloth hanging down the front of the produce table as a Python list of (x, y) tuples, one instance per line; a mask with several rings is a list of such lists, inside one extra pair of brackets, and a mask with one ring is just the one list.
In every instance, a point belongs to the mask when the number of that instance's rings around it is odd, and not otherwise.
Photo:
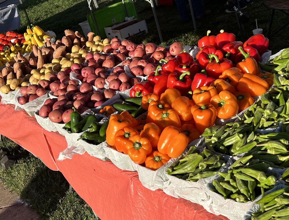
[(67, 147), (64, 136), (49, 132), (24, 110), (0, 104), (0, 133), (40, 158), (52, 170), (59, 170), (102, 219), (228, 219), (213, 215), (202, 206), (177, 199), (162, 190), (151, 191), (138, 179), (138, 173), (120, 170), (110, 160), (89, 154), (57, 161)]

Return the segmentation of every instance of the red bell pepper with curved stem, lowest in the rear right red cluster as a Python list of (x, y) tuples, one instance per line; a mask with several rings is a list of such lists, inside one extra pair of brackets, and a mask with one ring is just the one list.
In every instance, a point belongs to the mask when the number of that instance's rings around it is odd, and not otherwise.
[(210, 62), (206, 67), (206, 73), (209, 77), (219, 79), (219, 76), (222, 75), (223, 71), (234, 66), (232, 61), (226, 58), (219, 60), (214, 54), (211, 54), (210, 58), (215, 59), (215, 62)]

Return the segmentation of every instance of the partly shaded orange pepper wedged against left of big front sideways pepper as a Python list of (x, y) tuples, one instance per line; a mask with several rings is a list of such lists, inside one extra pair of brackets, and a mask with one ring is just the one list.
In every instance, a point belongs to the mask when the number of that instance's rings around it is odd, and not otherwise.
[(160, 127), (155, 123), (147, 123), (144, 125), (144, 129), (139, 134), (141, 137), (147, 138), (151, 142), (152, 148), (157, 148), (157, 142), (160, 139), (162, 131)]

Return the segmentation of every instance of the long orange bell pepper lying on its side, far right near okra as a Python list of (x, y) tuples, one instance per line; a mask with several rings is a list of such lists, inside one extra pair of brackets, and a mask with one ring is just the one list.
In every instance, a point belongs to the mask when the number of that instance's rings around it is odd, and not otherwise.
[(269, 84), (256, 75), (245, 73), (239, 81), (237, 89), (240, 92), (248, 92), (251, 96), (259, 96), (269, 89)]

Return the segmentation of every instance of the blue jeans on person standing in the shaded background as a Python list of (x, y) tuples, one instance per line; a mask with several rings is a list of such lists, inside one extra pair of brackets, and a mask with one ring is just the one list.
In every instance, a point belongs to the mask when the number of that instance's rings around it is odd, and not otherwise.
[[(189, 0), (192, 2), (195, 17), (201, 17), (205, 14), (205, 6), (203, 0)], [(182, 20), (188, 20), (188, 0), (176, 0), (176, 5)]]

